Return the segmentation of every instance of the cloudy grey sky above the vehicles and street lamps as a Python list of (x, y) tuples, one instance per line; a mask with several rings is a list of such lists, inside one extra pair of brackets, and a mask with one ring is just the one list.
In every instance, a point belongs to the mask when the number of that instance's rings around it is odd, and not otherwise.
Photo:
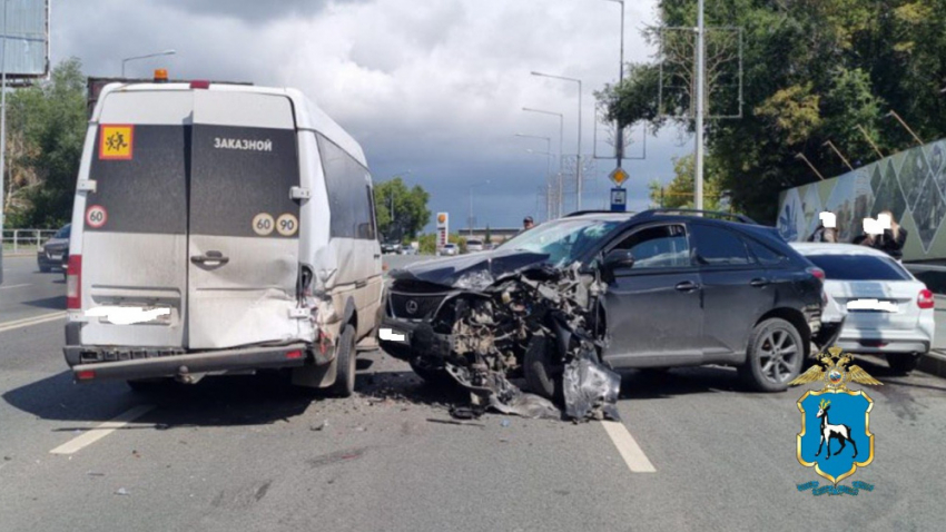
[[(629, 0), (625, 60), (650, 53), (640, 28), (654, 0)], [(618, 78), (620, 6), (605, 0), (53, 0), (52, 60), (81, 59), (90, 76), (118, 76), (121, 58), (173, 48), (176, 56), (128, 63), (128, 76), (166, 67), (171, 77), (296, 87), (364, 147), (376, 183), (405, 176), (431, 193), (431, 209), (465, 227), (471, 185), (480, 225), (541, 217), (545, 141), (577, 150), (582, 80), (582, 152), (594, 149), (592, 92)], [(603, 127), (603, 126), (602, 126)], [(602, 129), (603, 134), (603, 129)], [(604, 135), (600, 134), (600, 137)], [(629, 154), (641, 152), (641, 132)], [(686, 142), (681, 146), (681, 142)], [(647, 183), (669, 180), (670, 158), (691, 149), (677, 131), (648, 139), (628, 160), (629, 208), (647, 205)], [(608, 146), (599, 142), (599, 155)], [(558, 158), (553, 170), (558, 169)], [(598, 160), (584, 208), (608, 199), (614, 161)], [(575, 206), (566, 196), (565, 209)]]

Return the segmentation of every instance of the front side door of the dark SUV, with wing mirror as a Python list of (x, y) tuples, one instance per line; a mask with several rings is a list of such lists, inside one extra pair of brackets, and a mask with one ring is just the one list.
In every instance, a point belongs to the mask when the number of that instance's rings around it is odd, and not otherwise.
[(605, 249), (629, 249), (632, 267), (615, 268), (604, 296), (614, 367), (672, 366), (702, 357), (700, 274), (683, 224), (637, 227)]

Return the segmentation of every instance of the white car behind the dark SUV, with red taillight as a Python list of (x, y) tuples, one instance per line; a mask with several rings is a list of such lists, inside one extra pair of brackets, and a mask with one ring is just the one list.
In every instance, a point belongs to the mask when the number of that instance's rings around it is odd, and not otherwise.
[(884, 354), (906, 374), (933, 345), (934, 298), (926, 285), (884, 252), (853, 244), (792, 243), (825, 270), (824, 316), (845, 316), (837, 345)]

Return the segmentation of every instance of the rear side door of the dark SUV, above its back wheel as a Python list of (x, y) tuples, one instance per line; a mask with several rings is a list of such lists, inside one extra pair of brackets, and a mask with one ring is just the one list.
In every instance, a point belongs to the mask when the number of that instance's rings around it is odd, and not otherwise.
[(756, 321), (775, 305), (775, 286), (736, 231), (697, 221), (690, 233), (703, 283), (707, 362), (741, 359)]

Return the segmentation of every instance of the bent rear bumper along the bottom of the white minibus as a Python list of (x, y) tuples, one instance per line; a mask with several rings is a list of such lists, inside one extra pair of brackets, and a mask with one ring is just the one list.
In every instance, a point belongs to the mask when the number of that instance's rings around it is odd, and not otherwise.
[[(160, 352), (159, 349), (88, 347), (69, 345), (63, 348), (66, 361), (78, 382), (154, 377), (185, 377), (191, 374), (239, 372), (249, 370), (299, 367), (312, 363), (305, 344), (278, 347), (244, 347), (199, 353)], [(85, 362), (89, 355), (101, 354), (107, 362)], [(149, 356), (155, 355), (155, 356)], [(317, 363), (318, 361), (316, 361)]]

